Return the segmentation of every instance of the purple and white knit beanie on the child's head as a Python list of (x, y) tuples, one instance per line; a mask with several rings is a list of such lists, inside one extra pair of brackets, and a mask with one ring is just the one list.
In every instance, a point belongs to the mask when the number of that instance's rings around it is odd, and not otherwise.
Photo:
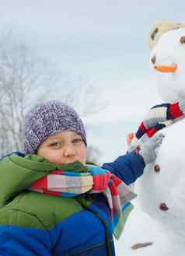
[(25, 116), (25, 153), (36, 153), (44, 139), (64, 130), (77, 132), (86, 143), (84, 125), (72, 107), (58, 100), (35, 105)]

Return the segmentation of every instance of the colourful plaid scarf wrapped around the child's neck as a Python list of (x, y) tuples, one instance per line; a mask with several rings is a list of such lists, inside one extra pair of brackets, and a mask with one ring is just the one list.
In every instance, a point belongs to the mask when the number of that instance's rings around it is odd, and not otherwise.
[(117, 239), (133, 209), (130, 201), (136, 197), (136, 194), (117, 176), (93, 165), (86, 165), (83, 170), (51, 171), (36, 181), (29, 190), (62, 197), (75, 197), (86, 192), (103, 193), (110, 209), (113, 235)]

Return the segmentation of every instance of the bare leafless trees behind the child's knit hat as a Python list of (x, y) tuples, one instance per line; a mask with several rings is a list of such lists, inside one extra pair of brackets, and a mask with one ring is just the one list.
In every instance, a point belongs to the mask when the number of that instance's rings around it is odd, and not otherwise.
[(23, 150), (25, 112), (46, 100), (69, 103), (84, 117), (106, 106), (82, 75), (66, 75), (40, 59), (12, 31), (0, 35), (0, 156)]

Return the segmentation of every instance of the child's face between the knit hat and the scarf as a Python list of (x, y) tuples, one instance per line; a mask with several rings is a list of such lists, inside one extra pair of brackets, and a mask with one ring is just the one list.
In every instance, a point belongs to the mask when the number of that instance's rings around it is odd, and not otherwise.
[(51, 135), (39, 146), (38, 156), (43, 156), (50, 163), (66, 164), (79, 161), (86, 163), (86, 145), (76, 132), (65, 130)]

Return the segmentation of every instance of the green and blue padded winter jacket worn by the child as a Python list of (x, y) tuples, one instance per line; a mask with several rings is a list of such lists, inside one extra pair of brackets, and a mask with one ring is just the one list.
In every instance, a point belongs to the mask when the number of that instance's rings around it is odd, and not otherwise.
[[(29, 179), (32, 184), (35, 176), (37, 180), (51, 171), (47, 166), (42, 169), (43, 163), (32, 163), (30, 170), (30, 162), (22, 163), (23, 158), (13, 154), (0, 162), (0, 256), (115, 255), (103, 195), (58, 198), (25, 190), (16, 195), (15, 189), (25, 181), (29, 186)], [(145, 163), (140, 155), (129, 153), (103, 168), (131, 184), (141, 176)]]

